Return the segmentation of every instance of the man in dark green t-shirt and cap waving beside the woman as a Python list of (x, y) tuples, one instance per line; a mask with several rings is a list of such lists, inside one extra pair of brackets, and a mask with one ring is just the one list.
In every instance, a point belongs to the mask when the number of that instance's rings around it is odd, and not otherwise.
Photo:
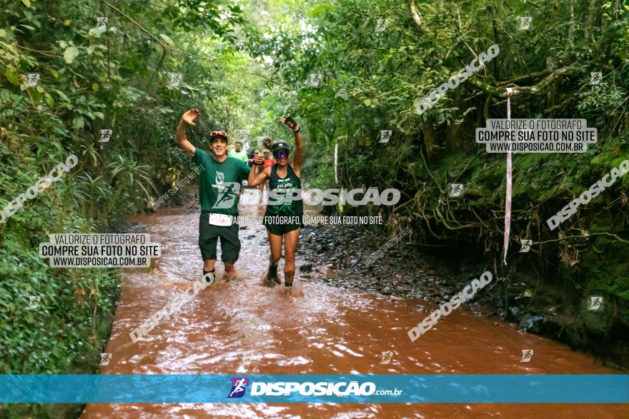
[[(177, 146), (182, 148), (192, 161), (204, 170), (199, 173), (199, 248), (203, 258), (203, 276), (214, 281), (214, 264), (217, 260), (217, 243), (221, 240), (221, 260), (225, 264), (225, 278), (236, 277), (234, 263), (240, 253), (238, 224), (238, 193), (240, 182), (249, 176), (249, 166), (227, 156), (227, 133), (212, 131), (209, 136), (209, 151), (196, 148), (186, 138), (186, 126), (197, 125), (194, 119), (201, 113), (190, 109), (183, 114), (177, 126)], [(207, 277), (209, 275), (209, 278)], [(211, 279), (211, 281), (210, 281)]]

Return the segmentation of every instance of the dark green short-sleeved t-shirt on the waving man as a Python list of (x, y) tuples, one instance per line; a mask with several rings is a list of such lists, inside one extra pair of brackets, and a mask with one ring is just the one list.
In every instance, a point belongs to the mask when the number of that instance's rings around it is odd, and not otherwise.
[(204, 168), (199, 173), (201, 209), (238, 216), (240, 182), (249, 177), (249, 166), (232, 157), (227, 157), (224, 162), (219, 163), (214, 160), (212, 154), (201, 148), (194, 150), (192, 161)]

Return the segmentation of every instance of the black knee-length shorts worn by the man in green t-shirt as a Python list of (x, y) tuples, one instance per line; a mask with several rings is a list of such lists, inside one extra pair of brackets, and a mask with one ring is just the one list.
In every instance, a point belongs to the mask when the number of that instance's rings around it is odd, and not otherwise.
[(238, 224), (232, 226), (212, 226), (209, 213), (202, 212), (199, 218), (199, 248), (204, 261), (217, 260), (217, 243), (221, 239), (221, 260), (223, 263), (236, 263), (240, 255)]

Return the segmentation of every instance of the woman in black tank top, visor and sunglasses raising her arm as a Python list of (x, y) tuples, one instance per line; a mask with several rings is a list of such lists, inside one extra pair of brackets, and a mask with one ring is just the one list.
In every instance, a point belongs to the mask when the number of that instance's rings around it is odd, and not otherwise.
[[(264, 158), (262, 154), (256, 153), (253, 163), (257, 169), (249, 172), (247, 182), (249, 186), (257, 186), (269, 179), (269, 203), (267, 204), (267, 212), (264, 214), (264, 226), (267, 227), (267, 236), (269, 236), (269, 246), (271, 247), (267, 285), (275, 286), (276, 283), (281, 283), (277, 276), (277, 262), (282, 256), (282, 241), (284, 241), (284, 286), (290, 287), (294, 280), (294, 255), (297, 250), (299, 230), (303, 226), (302, 181), (300, 176), (304, 162), (304, 146), (299, 126), (290, 115), (286, 118), (279, 118), (279, 121), (294, 132), (295, 151), (292, 165), (288, 163), (290, 153), (288, 144), (284, 141), (278, 141), (272, 146), (272, 156), (276, 163), (271, 167), (262, 168)], [(262, 171), (259, 171), (258, 168), (261, 168)], [(289, 192), (292, 189), (297, 191)], [(299, 199), (294, 198), (295, 192), (299, 193)], [(285, 199), (287, 193), (290, 193), (289, 199)]]

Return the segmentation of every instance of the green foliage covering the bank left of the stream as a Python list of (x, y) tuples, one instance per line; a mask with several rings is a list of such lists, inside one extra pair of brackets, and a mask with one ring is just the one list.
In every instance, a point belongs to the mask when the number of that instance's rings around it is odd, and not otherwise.
[[(174, 144), (179, 115), (211, 110), (190, 133), (205, 146), (231, 118), (224, 105), (240, 106), (222, 64), (234, 53), (223, 35), (237, 24), (239, 7), (227, 1), (0, 0), (0, 209), (69, 155), (79, 160), (0, 224), (0, 373), (95, 370), (117, 273), (49, 268), (39, 243), (50, 233), (116, 231), (189, 173)], [(28, 73), (40, 74), (37, 86)], [(169, 73), (182, 83), (171, 86)], [(99, 142), (101, 129), (112, 129), (109, 142)], [(36, 310), (31, 297), (41, 298)]]

